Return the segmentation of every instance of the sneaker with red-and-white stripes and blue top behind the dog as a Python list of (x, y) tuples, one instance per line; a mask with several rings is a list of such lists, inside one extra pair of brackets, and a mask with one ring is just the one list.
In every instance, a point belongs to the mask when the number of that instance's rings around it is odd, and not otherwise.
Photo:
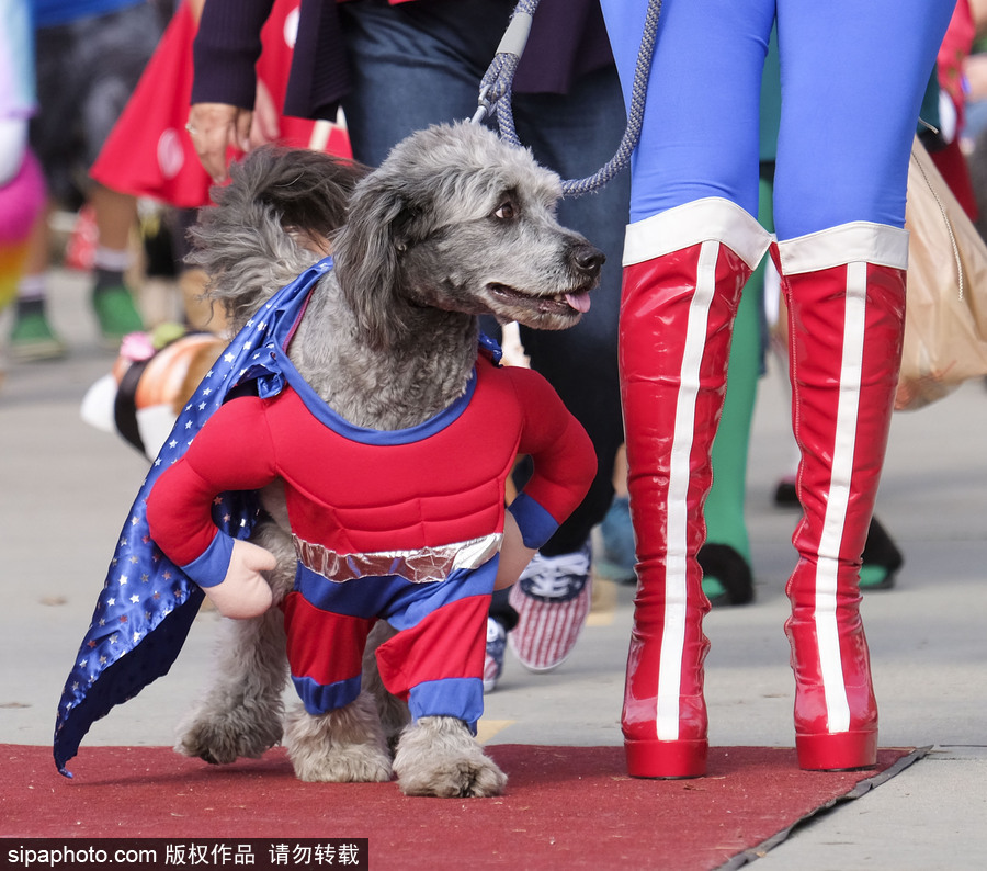
[(508, 644), (529, 671), (552, 671), (576, 646), (592, 604), (589, 542), (559, 556), (535, 554), (511, 588), (518, 625)]

